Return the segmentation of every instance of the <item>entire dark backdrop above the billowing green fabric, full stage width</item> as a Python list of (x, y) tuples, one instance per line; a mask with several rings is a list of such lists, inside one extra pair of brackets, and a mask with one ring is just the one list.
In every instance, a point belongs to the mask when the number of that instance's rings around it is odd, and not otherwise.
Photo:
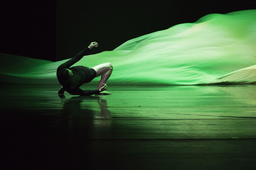
[(58, 61), (90, 54), (207, 14), (255, 9), (253, 0), (8, 0), (0, 4), (0, 52)]

